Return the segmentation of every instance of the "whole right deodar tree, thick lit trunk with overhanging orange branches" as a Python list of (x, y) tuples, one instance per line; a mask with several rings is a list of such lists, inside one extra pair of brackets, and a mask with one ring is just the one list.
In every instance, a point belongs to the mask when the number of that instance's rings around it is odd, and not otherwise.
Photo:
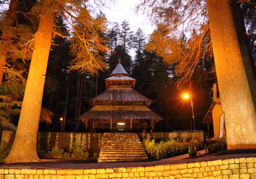
[[(178, 63), (176, 73), (181, 76), (181, 84), (190, 79), (200, 61), (204, 71), (204, 61), (214, 56), (227, 148), (255, 149), (255, 78), (239, 2), (147, 0), (142, 5), (150, 8), (152, 22), (158, 27), (147, 49), (167, 62)], [(182, 35), (192, 37), (193, 32), (197, 32), (196, 37), (184, 46)]]

